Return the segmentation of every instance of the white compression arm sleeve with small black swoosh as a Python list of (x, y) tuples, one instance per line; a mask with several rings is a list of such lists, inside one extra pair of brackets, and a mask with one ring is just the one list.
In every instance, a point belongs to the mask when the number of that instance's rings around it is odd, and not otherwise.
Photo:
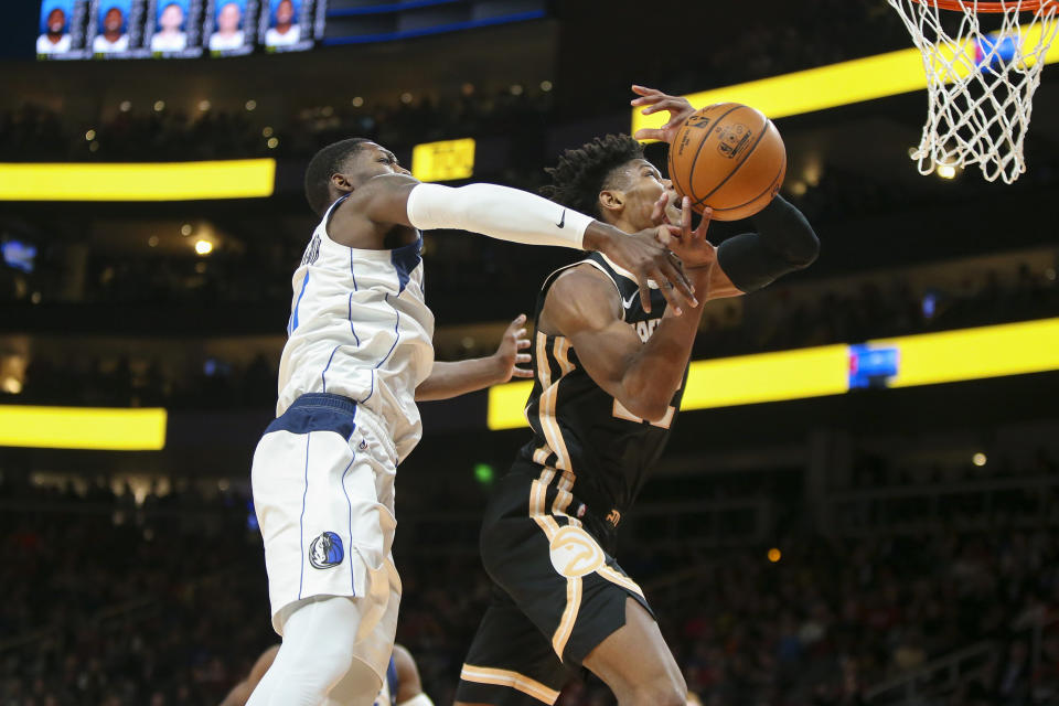
[(513, 243), (581, 249), (592, 221), (547, 199), (496, 184), (457, 189), (419, 184), (408, 194), (408, 222), (420, 231), (458, 228)]

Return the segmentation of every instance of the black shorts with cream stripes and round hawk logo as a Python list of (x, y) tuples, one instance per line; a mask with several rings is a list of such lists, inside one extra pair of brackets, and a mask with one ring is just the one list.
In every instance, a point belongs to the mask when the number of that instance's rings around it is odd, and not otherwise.
[(640, 587), (586, 530), (597, 523), (573, 486), (571, 473), (527, 462), (499, 482), (481, 534), (492, 600), (457, 700), (554, 704), (588, 653), (625, 624), (629, 597), (651, 612)]

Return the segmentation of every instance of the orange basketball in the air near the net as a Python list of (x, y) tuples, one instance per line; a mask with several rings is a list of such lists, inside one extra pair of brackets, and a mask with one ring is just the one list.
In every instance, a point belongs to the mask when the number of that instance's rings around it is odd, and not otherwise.
[(738, 221), (769, 205), (787, 173), (783, 138), (760, 110), (717, 103), (696, 110), (670, 146), (670, 179), (692, 207)]

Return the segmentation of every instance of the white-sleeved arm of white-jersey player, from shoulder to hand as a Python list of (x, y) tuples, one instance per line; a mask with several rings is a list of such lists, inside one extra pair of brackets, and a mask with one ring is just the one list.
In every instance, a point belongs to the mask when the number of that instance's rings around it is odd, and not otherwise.
[(668, 255), (668, 226), (629, 235), (547, 199), (496, 184), (451, 188), (424, 184), (405, 174), (370, 179), (353, 192), (349, 206), (375, 224), (398, 224), (430, 231), (456, 228), (501, 240), (598, 250), (633, 272), (640, 297), (651, 310), (648, 280), (670, 282), (663, 295), (675, 307), (697, 303), (680, 261)]

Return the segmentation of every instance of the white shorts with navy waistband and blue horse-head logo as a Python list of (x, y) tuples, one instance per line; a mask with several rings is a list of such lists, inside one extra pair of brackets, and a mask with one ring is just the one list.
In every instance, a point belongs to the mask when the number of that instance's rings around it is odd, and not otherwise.
[(265, 430), (250, 473), (265, 541), (272, 627), (306, 599), (357, 606), (357, 657), (385, 678), (400, 578), (391, 553), (397, 454), (385, 427), (353, 400), (306, 394)]

